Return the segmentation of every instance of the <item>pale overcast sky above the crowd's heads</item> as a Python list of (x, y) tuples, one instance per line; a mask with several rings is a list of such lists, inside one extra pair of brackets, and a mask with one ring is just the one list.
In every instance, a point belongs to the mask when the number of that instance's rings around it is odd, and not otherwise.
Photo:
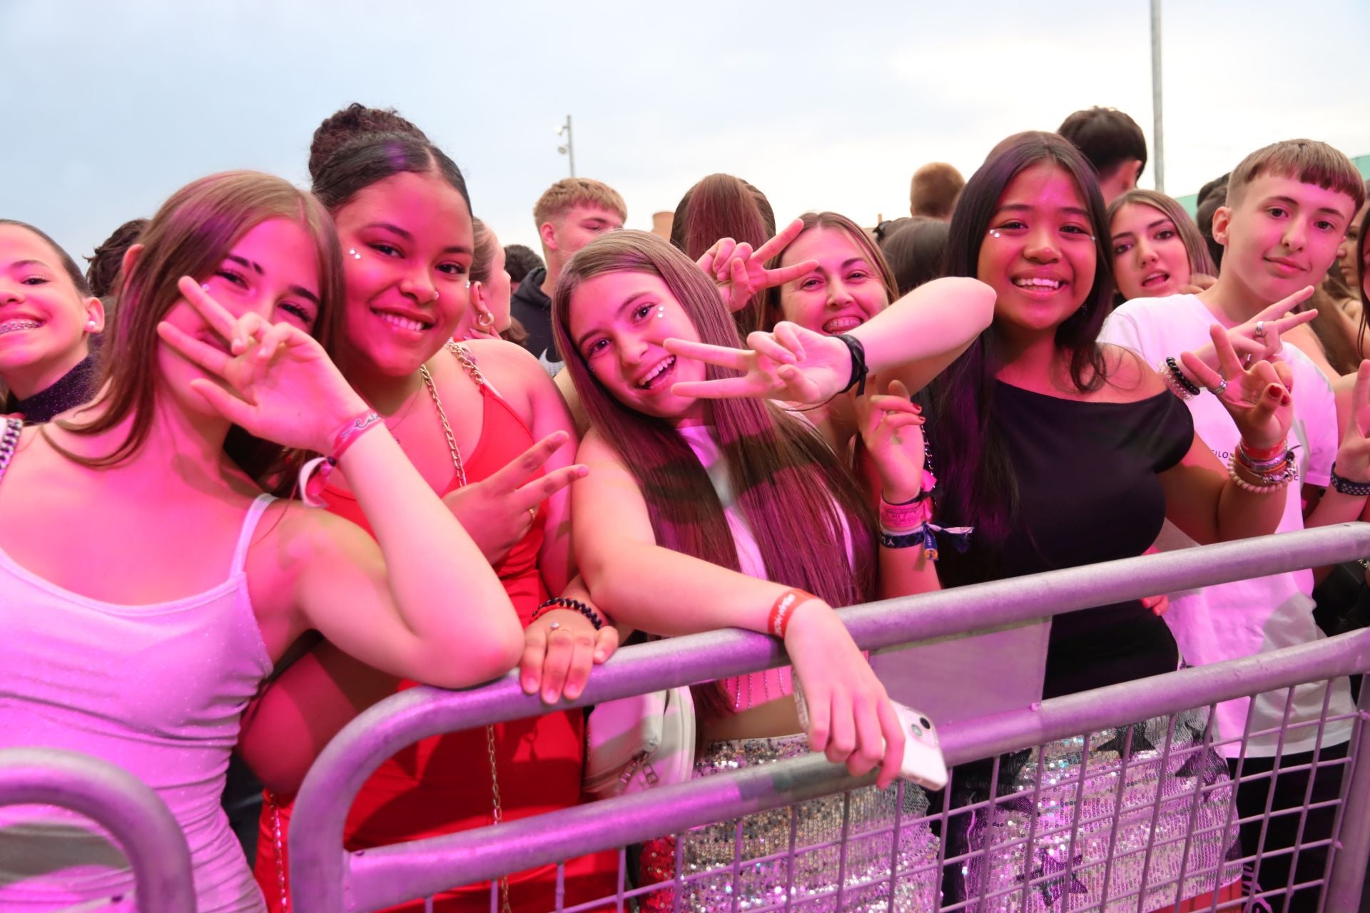
[[(1166, 189), (1274, 140), (1370, 153), (1367, 47), (1366, 0), (1166, 0)], [(314, 127), (356, 100), (423, 127), (506, 244), (536, 248), (567, 114), (577, 174), (623, 194), (629, 227), (712, 171), (782, 220), (871, 224), (907, 215), (918, 164), (969, 177), (1077, 108), (1149, 138), (1149, 53), (1147, 0), (0, 0), (0, 216), (79, 256), (212, 171), (304, 183)]]

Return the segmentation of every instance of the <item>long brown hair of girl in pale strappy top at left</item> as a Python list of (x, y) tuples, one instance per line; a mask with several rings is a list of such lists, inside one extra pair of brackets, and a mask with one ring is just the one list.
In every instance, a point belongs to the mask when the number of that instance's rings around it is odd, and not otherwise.
[[(248, 231), (270, 219), (299, 223), (316, 252), (319, 313), (312, 335), (333, 352), (342, 300), (342, 257), (333, 220), (311, 194), (281, 178), (255, 171), (226, 171), (195, 181), (167, 198), (142, 230), (142, 252), (121, 275), (112, 338), (105, 342), (97, 402), (103, 411), (89, 422), (62, 420), (73, 434), (101, 434), (119, 427), (129, 416), (129, 434), (112, 452), (82, 457), (59, 450), (90, 467), (118, 465), (133, 457), (148, 439), (162, 378), (156, 353), (162, 345), (158, 323), (181, 301), (177, 282), (188, 275), (204, 282)], [(79, 413), (78, 413), (79, 415)], [(279, 475), (282, 449), (252, 438), (241, 428), (230, 433), (225, 449), (259, 483)]]

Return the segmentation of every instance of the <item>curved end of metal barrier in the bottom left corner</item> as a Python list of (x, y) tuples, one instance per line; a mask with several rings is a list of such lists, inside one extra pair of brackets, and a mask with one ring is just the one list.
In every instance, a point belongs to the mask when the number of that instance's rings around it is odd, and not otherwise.
[(138, 913), (195, 910), (190, 849), (166, 803), (121, 767), (60, 749), (0, 750), (0, 805), (56, 805), (107, 830), (133, 866)]

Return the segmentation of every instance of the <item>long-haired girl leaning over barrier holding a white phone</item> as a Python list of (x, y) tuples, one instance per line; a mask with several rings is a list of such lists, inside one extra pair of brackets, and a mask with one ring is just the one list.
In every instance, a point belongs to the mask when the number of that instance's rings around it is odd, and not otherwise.
[[(590, 242), (567, 264), (553, 296), (559, 349), (566, 353), (592, 430), (580, 459), (590, 474), (573, 493), (575, 550), (597, 605), (655, 635), (743, 627), (782, 636), (793, 668), (758, 672), (699, 691), (704, 747), (695, 776), (769, 764), (810, 749), (845, 762), (852, 773), (884, 761), (878, 786), (851, 797), (851, 834), (843, 909), (922, 910), (936, 905), (936, 842), (926, 825), (910, 825), (897, 853), (885, 838), (855, 839), (895, 820), (893, 780), (903, 734), (884, 687), (852, 643), (832, 606), (936, 589), (932, 564), (908, 549), (875, 542), (871, 509), (843, 460), (801, 416), (755, 394), (751, 375), (730, 376), (693, 357), (745, 359), (725, 307), (733, 293), (778, 277), (738, 257), (722, 289), (680, 250), (640, 231), (615, 231)], [(717, 274), (714, 274), (717, 275)], [(733, 287), (733, 283), (738, 287)], [(722, 292), (722, 294), (721, 294)], [(981, 304), (984, 307), (978, 307)], [(988, 289), (952, 281), (900, 303), (860, 333), (873, 368), (923, 357), (947, 360), (989, 316)], [(949, 341), (918, 339), (917, 327), (945, 322)], [(904, 330), (901, 333), (900, 330)], [(667, 339), (673, 339), (667, 348)], [(854, 356), (847, 344), (807, 334), (810, 360), (789, 372), (777, 396), (822, 402), (848, 383)], [(941, 337), (938, 337), (941, 339)], [(912, 352), (911, 352), (912, 349)], [(696, 394), (723, 396), (717, 402)], [(922, 419), (907, 398), (875, 397), (867, 445), (891, 470), (897, 501), (919, 494)], [(884, 420), (881, 420), (884, 419)], [(895, 467), (899, 467), (897, 470)], [(790, 587), (803, 587), (793, 590)], [(806, 591), (807, 590), (807, 591)], [(793, 676), (807, 695), (810, 725), (801, 731)], [(908, 814), (926, 810), (926, 797), (906, 793)], [(796, 809), (803, 842), (843, 832), (841, 797)], [(769, 854), (789, 840), (789, 809), (747, 820), (743, 853)], [(721, 869), (692, 883), (684, 909), (730, 909), (734, 830), (695, 830), (681, 838), (686, 872)], [(674, 876), (669, 843), (647, 846), (648, 882)], [(889, 860), (915, 875), (889, 897)], [(792, 895), (833, 888), (837, 860), (808, 853), (796, 861)], [(744, 901), (785, 891), (786, 864), (748, 864)], [(852, 887), (866, 879), (886, 879)], [(667, 891), (649, 909), (670, 909)]]

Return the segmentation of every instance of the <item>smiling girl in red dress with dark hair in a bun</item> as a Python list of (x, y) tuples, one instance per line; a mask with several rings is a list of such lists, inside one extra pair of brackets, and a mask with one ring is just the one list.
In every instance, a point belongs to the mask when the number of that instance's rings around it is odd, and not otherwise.
[[(325, 122), (315, 145), (333, 138), (333, 127), (347, 130), (349, 116)], [(464, 178), (412, 130), (363, 131), (311, 156), (311, 170), (344, 250), (344, 375), (493, 564), (526, 628), (525, 690), (548, 702), (563, 687), (575, 697), (592, 663), (616, 645), (611, 626), (593, 627), (600, 615), (575, 580), (566, 486), (584, 467), (573, 464), (566, 407), (526, 350), (501, 339), (448, 346), (473, 308), (475, 234)], [(358, 517), (352, 482), (351, 472), (333, 474), (321, 493), (330, 512)], [(578, 597), (586, 615), (548, 605), (549, 594)], [(358, 712), (412, 684), (322, 643), (256, 705), (242, 753), (269, 790), (256, 875), (271, 909), (288, 905), (292, 797), (310, 764)], [(575, 805), (582, 765), (581, 710), (422, 739), (362, 787), (345, 845), (363, 850)], [(571, 860), (566, 902), (611, 894), (616, 869), (614, 853)], [(552, 865), (511, 875), (501, 901), (514, 910), (551, 909), (556, 882)], [(488, 908), (489, 884), (436, 898), (438, 910)]]

